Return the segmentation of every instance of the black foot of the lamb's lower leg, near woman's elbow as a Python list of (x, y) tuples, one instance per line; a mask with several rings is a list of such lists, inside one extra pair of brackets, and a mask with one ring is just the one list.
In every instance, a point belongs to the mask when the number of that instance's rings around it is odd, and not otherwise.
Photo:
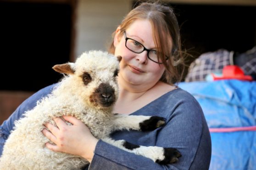
[(173, 164), (178, 161), (178, 158), (181, 157), (179, 151), (175, 148), (164, 148), (164, 159), (163, 160), (156, 160), (158, 164)]

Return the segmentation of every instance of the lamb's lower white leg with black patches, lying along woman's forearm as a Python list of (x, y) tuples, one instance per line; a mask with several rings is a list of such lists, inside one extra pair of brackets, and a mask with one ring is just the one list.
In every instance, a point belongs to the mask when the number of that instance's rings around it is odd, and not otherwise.
[(120, 149), (152, 159), (154, 162), (158, 164), (173, 164), (178, 161), (179, 157), (181, 157), (181, 154), (175, 148), (162, 148), (158, 146), (139, 146), (132, 143), (128, 143), (125, 140), (113, 140), (111, 138), (102, 138), (102, 140)]

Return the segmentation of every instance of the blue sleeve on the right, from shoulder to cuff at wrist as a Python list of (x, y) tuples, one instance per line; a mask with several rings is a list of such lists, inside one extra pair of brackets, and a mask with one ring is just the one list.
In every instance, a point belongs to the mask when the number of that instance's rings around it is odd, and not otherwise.
[[(178, 100), (178, 95), (183, 96), (183, 99)], [(158, 112), (158, 116), (166, 117), (167, 124), (156, 129), (156, 131), (159, 130), (156, 138), (150, 138), (151, 134), (154, 134), (150, 132), (143, 139), (144, 141), (155, 140), (156, 146), (178, 149), (182, 157), (177, 163), (159, 165), (151, 159), (129, 153), (99, 140), (89, 170), (207, 170), (211, 159), (211, 137), (203, 112), (192, 96), (188, 96), (187, 93), (178, 95), (175, 96), (177, 102), (175, 100), (160, 101), (167, 104), (162, 112)], [(157, 103), (157, 106), (159, 105), (160, 103)], [(152, 106), (150, 109), (154, 108), (157, 107)], [(132, 140), (138, 137), (133, 132), (125, 131), (124, 133), (129, 134), (129, 142), (133, 143), (137, 140)], [(140, 139), (142, 141), (142, 138)], [(148, 143), (140, 143), (140, 145), (149, 146)]]

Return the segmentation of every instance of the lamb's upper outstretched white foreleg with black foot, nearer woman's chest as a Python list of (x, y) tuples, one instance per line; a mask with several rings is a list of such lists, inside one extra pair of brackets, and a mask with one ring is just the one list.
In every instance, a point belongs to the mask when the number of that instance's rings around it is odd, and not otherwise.
[(115, 114), (113, 119), (113, 131), (116, 130), (141, 130), (150, 131), (159, 128), (165, 124), (163, 117), (157, 116), (135, 116)]

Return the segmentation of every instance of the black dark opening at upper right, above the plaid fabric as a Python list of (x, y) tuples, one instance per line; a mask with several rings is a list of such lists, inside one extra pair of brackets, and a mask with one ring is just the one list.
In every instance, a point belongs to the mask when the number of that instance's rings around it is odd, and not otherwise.
[(195, 57), (220, 48), (244, 53), (256, 45), (256, 6), (170, 5), (184, 48)]

